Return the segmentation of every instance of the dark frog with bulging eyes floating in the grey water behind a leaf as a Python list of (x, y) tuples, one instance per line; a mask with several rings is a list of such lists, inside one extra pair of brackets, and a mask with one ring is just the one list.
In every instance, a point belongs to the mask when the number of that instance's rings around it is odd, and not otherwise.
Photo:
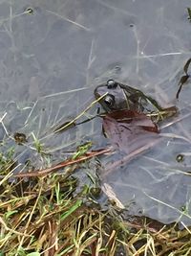
[(155, 123), (159, 123), (159, 121), (175, 116), (179, 112), (177, 106), (162, 107), (151, 96), (115, 80), (99, 84), (96, 86), (94, 94), (106, 113), (126, 109), (143, 113), (151, 117)]

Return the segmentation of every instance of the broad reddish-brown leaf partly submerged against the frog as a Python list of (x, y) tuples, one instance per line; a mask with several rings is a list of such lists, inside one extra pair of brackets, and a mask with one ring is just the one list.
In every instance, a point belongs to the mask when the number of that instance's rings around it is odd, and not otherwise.
[(145, 114), (126, 109), (104, 116), (103, 130), (114, 146), (128, 153), (158, 138), (159, 133), (157, 125)]

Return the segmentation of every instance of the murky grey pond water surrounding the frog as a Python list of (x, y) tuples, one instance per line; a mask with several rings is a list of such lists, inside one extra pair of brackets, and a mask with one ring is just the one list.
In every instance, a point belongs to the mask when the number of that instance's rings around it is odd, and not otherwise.
[[(180, 212), (184, 207), (191, 214), (191, 177), (181, 172), (191, 167), (190, 82), (175, 101), (183, 65), (191, 57), (190, 5), (189, 0), (1, 0), (5, 147), (13, 145), (15, 131), (27, 133), (29, 145), (17, 146), (16, 155), (20, 163), (33, 157), (36, 166), (42, 161), (34, 154), (32, 132), (53, 160), (88, 138), (98, 147), (105, 139), (97, 120), (61, 135), (53, 135), (53, 127), (89, 105), (99, 82), (114, 78), (136, 86), (161, 105), (178, 105), (182, 121), (162, 128), (158, 146), (103, 174), (103, 181), (123, 204), (133, 202), (134, 213), (190, 224)], [(185, 154), (182, 163), (176, 162), (179, 153)], [(111, 161), (105, 158), (106, 169)]]

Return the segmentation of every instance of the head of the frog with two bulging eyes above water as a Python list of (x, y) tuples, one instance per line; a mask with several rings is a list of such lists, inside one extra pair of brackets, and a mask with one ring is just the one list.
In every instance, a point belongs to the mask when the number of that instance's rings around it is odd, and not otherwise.
[[(114, 80), (100, 84), (95, 89), (96, 99), (104, 94), (99, 103), (107, 112), (121, 109), (139, 110), (139, 100), (141, 92), (128, 85), (124, 85)], [(141, 95), (139, 95), (139, 93)]]

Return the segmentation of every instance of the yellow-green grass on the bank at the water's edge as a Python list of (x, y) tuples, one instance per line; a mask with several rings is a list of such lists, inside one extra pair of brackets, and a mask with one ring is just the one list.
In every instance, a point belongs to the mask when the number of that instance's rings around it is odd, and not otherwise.
[(176, 224), (146, 218), (123, 220), (122, 210), (112, 203), (103, 211), (92, 193), (98, 182), (79, 190), (74, 166), (68, 168), (70, 175), (16, 182), (4, 178), (0, 255), (191, 255), (188, 227), (179, 230)]

